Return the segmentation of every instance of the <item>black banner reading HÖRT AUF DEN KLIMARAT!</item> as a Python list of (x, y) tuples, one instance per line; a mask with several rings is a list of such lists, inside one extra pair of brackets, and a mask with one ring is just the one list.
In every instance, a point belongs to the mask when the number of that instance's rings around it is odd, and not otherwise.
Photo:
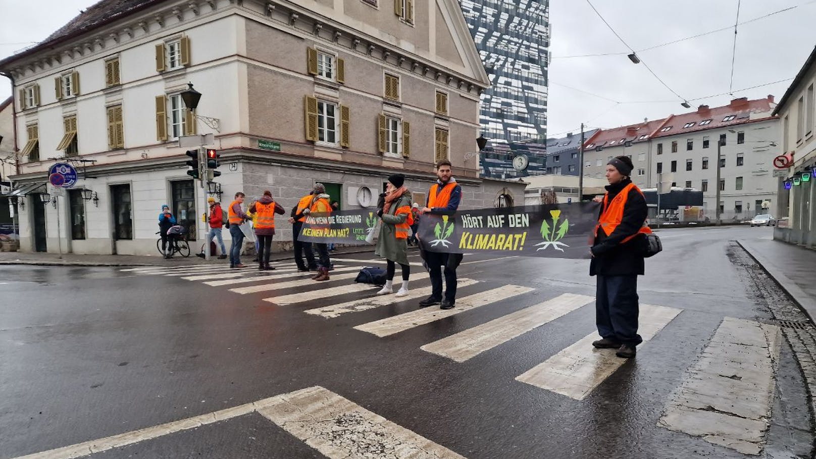
[(418, 233), (429, 252), (589, 258), (600, 207), (572, 203), (425, 214)]

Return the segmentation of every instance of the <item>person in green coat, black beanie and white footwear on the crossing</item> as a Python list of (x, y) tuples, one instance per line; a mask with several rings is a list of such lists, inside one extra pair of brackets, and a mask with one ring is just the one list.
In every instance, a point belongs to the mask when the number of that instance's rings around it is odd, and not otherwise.
[(402, 268), (402, 287), (397, 292), (397, 296), (408, 295), (408, 277), (410, 276), (408, 232), (410, 225), (414, 224), (414, 218), (410, 212), (411, 194), (404, 185), (405, 180), (406, 177), (402, 174), (388, 177), (383, 205), (377, 210), (377, 216), (383, 223), (379, 225), (379, 239), (377, 239), (377, 248), (374, 253), (388, 260), (385, 286), (377, 292), (377, 295), (388, 295), (394, 292), (393, 281), (397, 263)]

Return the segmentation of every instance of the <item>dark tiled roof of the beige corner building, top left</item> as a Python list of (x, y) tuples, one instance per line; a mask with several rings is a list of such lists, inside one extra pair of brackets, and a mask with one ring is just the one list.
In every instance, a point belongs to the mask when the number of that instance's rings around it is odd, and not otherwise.
[(63, 25), (60, 29), (48, 36), (42, 42), (39, 42), (34, 47), (16, 54), (15, 56), (7, 57), (0, 60), (0, 65), (5, 65), (10, 61), (16, 60), (22, 56), (29, 55), (33, 52), (39, 51), (42, 48), (52, 46), (56, 42), (60, 42), (64, 38), (69, 38), (80, 33), (85, 33), (88, 30), (95, 29), (100, 25), (121, 19), (124, 16), (144, 7), (149, 7), (155, 3), (163, 0), (100, 0), (94, 3), (91, 7), (87, 7), (84, 11), (68, 24)]

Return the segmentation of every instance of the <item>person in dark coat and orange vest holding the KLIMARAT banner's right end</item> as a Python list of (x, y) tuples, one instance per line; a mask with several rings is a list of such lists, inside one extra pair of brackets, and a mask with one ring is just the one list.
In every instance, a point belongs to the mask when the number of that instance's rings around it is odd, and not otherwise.
[(619, 156), (606, 165), (606, 194), (590, 251), (589, 275), (597, 276), (596, 326), (599, 349), (617, 348), (615, 354), (634, 357), (643, 339), (637, 334), (637, 276), (645, 271), (642, 233), (648, 210), (643, 192), (632, 183), (632, 159)]

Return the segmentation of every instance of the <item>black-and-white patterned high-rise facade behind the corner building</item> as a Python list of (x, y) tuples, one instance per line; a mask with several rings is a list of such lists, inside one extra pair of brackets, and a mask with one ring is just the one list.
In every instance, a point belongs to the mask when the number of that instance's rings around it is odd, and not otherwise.
[(490, 77), (481, 134), (494, 141), (547, 138), (549, 0), (459, 0)]

